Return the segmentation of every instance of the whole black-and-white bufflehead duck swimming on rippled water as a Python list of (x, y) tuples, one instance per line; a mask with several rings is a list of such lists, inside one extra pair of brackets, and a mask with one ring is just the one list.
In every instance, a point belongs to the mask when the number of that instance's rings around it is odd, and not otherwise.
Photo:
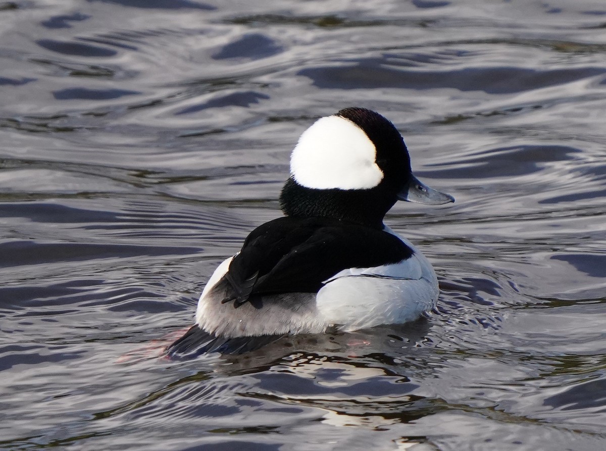
[(433, 309), (430, 262), (383, 224), (398, 200), (454, 202), (413, 176), (402, 136), (379, 113), (351, 107), (318, 119), (291, 155), (285, 216), (219, 265), (196, 324), (169, 355), (243, 352), (285, 334), (402, 323)]

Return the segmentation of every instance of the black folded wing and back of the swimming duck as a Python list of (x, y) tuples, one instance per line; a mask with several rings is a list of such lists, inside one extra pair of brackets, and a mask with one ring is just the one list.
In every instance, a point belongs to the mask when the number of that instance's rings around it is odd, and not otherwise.
[(413, 250), (379, 229), (327, 218), (267, 222), (248, 235), (224, 276), (234, 306), (251, 296), (315, 293), (341, 270), (368, 268), (409, 258)]

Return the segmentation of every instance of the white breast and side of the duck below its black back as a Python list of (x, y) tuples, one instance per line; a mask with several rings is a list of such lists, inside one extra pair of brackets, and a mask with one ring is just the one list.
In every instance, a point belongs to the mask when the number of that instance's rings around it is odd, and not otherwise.
[[(385, 231), (395, 236), (393, 230)], [(346, 332), (379, 324), (413, 321), (433, 309), (438, 279), (430, 262), (415, 251), (403, 262), (367, 269), (347, 269), (326, 281), (316, 296), (318, 312), (329, 324)]]

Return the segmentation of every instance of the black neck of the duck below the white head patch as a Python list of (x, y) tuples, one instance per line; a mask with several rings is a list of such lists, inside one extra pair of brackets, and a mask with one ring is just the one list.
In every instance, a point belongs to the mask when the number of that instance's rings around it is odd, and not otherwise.
[(299, 185), (289, 178), (280, 194), (282, 212), (287, 216), (319, 216), (383, 228), (385, 213), (396, 198), (386, 198), (379, 187), (367, 190), (319, 190)]

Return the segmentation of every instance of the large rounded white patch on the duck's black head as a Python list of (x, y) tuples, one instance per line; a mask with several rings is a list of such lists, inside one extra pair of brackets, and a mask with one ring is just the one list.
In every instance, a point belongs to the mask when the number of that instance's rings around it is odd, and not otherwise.
[(375, 145), (358, 125), (327, 116), (299, 138), (290, 157), (290, 173), (308, 188), (368, 189), (383, 179), (375, 158)]

